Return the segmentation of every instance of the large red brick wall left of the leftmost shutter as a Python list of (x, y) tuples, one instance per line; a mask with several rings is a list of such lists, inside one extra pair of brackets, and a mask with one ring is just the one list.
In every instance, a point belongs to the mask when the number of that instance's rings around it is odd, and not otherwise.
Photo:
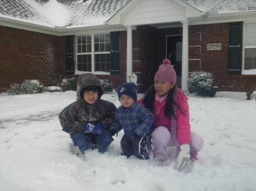
[(24, 79), (52, 85), (65, 71), (65, 37), (0, 26), (0, 87)]

